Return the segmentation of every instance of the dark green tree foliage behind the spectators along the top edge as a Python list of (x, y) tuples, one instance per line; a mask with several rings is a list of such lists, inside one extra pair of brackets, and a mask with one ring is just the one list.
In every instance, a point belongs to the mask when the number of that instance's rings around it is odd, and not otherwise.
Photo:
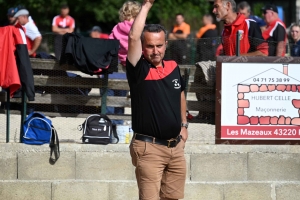
[[(138, 0), (142, 2), (142, 0)], [(69, 0), (70, 15), (76, 21), (76, 28), (87, 31), (94, 25), (100, 25), (105, 32), (110, 32), (119, 22), (118, 10), (125, 0)], [(51, 31), (52, 19), (59, 14), (60, 0), (0, 0), (1, 21), (6, 20), (7, 9), (24, 5), (30, 12), (39, 29)], [(157, 0), (147, 18), (147, 23), (161, 23), (168, 30), (174, 23), (176, 13), (185, 15), (186, 22), (192, 30), (201, 26), (203, 14), (210, 13), (207, 0)]]

